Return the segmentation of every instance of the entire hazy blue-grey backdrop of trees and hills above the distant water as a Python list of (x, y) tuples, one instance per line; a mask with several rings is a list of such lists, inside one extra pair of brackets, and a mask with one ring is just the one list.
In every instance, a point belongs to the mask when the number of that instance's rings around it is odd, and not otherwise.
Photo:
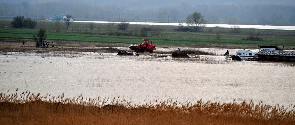
[(184, 22), (194, 12), (208, 23), (295, 25), (294, 0), (0, 0), (2, 18), (71, 14), (81, 20)]

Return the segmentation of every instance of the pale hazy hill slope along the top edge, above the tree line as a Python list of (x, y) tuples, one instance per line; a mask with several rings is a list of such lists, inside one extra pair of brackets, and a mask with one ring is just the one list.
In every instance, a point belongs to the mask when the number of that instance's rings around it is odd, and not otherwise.
[[(22, 2), (50, 2), (61, 0), (0, 0), (0, 2), (22, 3)], [(101, 5), (116, 4), (117, 6), (127, 6), (130, 8), (145, 8), (145, 7), (159, 7), (159, 6), (179, 6), (182, 3), (194, 5), (252, 5), (252, 4), (282, 4), (295, 5), (295, 0), (63, 0), (81, 3), (96, 3)]]

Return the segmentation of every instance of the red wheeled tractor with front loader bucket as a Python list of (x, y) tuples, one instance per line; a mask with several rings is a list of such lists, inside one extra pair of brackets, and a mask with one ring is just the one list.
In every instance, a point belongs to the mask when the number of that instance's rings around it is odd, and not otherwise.
[(149, 39), (142, 39), (142, 43), (140, 45), (130, 45), (129, 48), (134, 50), (135, 52), (150, 52), (156, 50), (156, 46), (150, 43)]

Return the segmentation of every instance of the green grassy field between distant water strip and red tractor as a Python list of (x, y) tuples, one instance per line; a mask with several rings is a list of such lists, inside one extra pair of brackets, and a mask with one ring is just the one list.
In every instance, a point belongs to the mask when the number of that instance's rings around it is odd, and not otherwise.
[[(32, 35), (38, 32), (35, 29), (12, 29), (9, 28), (9, 20), (1, 20), (0, 41), (20, 42), (22, 40), (32, 41)], [(47, 41), (55, 41), (59, 45), (77, 44), (76, 42), (95, 42), (99, 44), (113, 43), (140, 43), (142, 38), (151, 39), (156, 46), (161, 47), (208, 47), (208, 48), (221, 48), (221, 47), (245, 47), (244, 49), (257, 49), (257, 45), (276, 45), (279, 47), (284, 46), (286, 49), (294, 48), (295, 46), (295, 31), (291, 30), (259, 30), (259, 37), (263, 41), (248, 41), (242, 40), (247, 38), (251, 29), (241, 29), (239, 33), (230, 32), (230, 28), (204, 28), (202, 32), (179, 32), (177, 26), (146, 26), (146, 25), (130, 25), (127, 31), (117, 31), (114, 33), (132, 32), (133, 36), (118, 36), (107, 35), (107, 24), (95, 24), (93, 30), (89, 29), (89, 23), (75, 23), (70, 29), (61, 29), (56, 32), (54, 22), (45, 21), (45, 29), (47, 30)], [(114, 29), (116, 29), (114, 24)], [(38, 26), (37, 26), (38, 27)], [(152, 36), (148, 33), (147, 37), (138, 36), (140, 28), (142, 27), (158, 27), (160, 35), (158, 37)], [(211, 29), (212, 31), (210, 31)], [(217, 32), (221, 33), (221, 39), (216, 39)], [(137, 34), (137, 35), (135, 35)], [(58, 41), (58, 42), (57, 42)], [(96, 44), (96, 46), (101, 46)], [(115, 47), (127, 47), (118, 44)], [(104, 44), (104, 46), (107, 46)], [(255, 47), (254, 47), (255, 46)]]

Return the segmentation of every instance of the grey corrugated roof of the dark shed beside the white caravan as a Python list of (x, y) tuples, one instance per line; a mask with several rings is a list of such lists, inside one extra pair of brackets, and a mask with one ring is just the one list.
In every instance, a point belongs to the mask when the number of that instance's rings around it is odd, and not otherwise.
[(295, 56), (295, 51), (283, 50), (262, 50), (256, 55), (270, 55), (270, 56)]

